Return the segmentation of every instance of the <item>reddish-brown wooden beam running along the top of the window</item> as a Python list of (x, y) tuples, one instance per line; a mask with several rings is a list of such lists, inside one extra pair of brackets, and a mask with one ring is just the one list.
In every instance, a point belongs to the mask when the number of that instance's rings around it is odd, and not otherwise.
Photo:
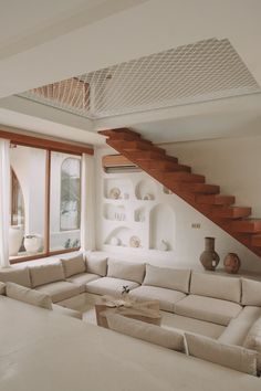
[(33, 147), (40, 149), (54, 150), (58, 152), (72, 154), (72, 155), (94, 155), (94, 150), (91, 147), (69, 144), (64, 141), (50, 140), (48, 138), (28, 136), (23, 134), (6, 131), (0, 129), (0, 138), (9, 139), (13, 144), (18, 144), (25, 147)]

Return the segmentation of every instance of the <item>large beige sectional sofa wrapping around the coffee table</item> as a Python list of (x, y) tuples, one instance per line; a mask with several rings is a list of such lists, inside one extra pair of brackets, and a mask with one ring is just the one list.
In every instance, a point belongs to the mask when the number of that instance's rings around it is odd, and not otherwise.
[[(0, 281), (45, 294), (51, 297), (53, 310), (79, 318), (81, 314), (63, 307), (66, 299), (83, 293), (121, 295), (123, 286), (127, 285), (129, 296), (136, 300), (157, 299), (161, 310), (185, 321), (195, 319), (220, 326), (221, 334), (215, 341), (219, 348), (237, 346), (258, 352), (258, 368), (261, 370), (261, 282), (112, 258), (107, 261), (106, 257), (85, 258), (82, 253), (50, 264), (1, 270)], [(4, 292), (2, 285), (0, 292)], [(194, 340), (194, 344), (198, 341)], [(205, 345), (208, 344), (202, 341)]]

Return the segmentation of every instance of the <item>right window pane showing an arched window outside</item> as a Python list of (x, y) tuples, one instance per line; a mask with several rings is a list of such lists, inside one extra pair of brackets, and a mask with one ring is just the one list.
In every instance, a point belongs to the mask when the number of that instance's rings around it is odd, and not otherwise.
[(50, 250), (80, 246), (81, 158), (51, 154)]

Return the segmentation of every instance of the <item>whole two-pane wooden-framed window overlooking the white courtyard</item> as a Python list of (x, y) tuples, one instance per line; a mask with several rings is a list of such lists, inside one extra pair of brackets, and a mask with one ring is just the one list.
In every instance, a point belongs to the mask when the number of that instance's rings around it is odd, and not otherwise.
[(81, 156), (12, 145), (10, 162), (10, 261), (77, 250)]

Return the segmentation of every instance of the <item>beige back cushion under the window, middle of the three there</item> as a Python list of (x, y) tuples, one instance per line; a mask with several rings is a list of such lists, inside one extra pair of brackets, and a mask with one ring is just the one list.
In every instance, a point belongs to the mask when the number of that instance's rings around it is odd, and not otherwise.
[(32, 287), (65, 279), (61, 262), (30, 267)]

